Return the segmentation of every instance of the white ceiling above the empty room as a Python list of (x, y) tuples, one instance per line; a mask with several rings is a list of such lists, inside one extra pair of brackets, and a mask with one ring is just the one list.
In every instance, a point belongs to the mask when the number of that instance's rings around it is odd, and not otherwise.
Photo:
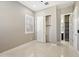
[(39, 11), (54, 5), (59, 6), (59, 8), (67, 7), (73, 5), (73, 1), (48, 1), (48, 5), (44, 5), (41, 1), (20, 1), (23, 5), (30, 8), (33, 11)]

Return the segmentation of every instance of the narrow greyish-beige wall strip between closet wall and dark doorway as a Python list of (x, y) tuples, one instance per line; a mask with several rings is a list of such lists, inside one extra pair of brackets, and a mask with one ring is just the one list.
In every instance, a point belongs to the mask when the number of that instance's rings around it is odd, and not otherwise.
[(57, 30), (57, 42), (60, 43), (61, 40), (61, 10), (56, 7), (56, 30)]

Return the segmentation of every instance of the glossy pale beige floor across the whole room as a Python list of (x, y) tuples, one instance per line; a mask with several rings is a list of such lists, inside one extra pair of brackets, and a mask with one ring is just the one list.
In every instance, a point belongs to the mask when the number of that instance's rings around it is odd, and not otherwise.
[(67, 42), (61, 45), (41, 43), (36, 40), (10, 49), (0, 54), (1, 57), (77, 57), (78, 51), (74, 50)]

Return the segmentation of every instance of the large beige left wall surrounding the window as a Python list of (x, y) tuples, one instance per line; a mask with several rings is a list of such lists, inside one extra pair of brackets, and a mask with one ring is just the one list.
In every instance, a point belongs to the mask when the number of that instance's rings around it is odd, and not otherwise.
[(34, 33), (25, 34), (25, 15), (34, 12), (19, 2), (0, 1), (0, 52), (34, 39)]

